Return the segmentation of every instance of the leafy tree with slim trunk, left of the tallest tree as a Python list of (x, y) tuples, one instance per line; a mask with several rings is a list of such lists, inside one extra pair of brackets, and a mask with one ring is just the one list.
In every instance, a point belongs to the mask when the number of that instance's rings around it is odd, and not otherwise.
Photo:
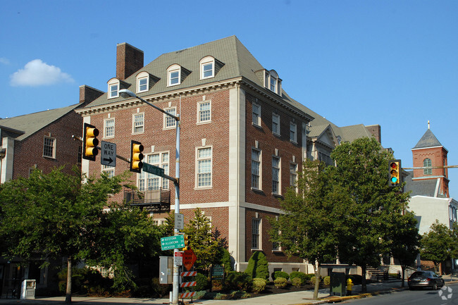
[(298, 191), (288, 189), (281, 201), (285, 214), (271, 220), (271, 241), (281, 244), (288, 256), (297, 255), (313, 264), (314, 299), (318, 298), (321, 264), (335, 260), (338, 244), (340, 194), (328, 182), (325, 163), (306, 160), (298, 174)]

